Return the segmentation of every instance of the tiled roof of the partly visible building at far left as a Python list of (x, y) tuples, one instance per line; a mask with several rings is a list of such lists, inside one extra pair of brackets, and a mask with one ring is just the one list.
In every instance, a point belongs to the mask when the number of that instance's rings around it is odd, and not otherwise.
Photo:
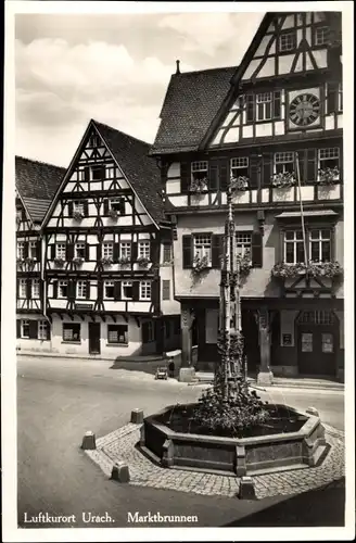
[(34, 223), (43, 219), (64, 174), (63, 167), (15, 156), (16, 189)]

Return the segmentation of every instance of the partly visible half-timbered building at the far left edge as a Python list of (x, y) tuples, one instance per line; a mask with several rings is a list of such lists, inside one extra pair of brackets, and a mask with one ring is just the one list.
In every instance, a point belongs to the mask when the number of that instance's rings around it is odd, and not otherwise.
[(65, 168), (15, 157), (17, 349), (50, 351), (40, 227), (64, 174)]

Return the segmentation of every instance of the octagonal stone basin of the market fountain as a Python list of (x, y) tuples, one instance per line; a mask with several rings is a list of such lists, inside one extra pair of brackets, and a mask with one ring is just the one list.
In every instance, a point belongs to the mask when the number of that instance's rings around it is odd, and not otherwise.
[[(187, 404), (191, 408), (194, 404)], [(275, 406), (278, 407), (278, 406)], [(167, 468), (198, 469), (242, 477), (315, 466), (326, 451), (320, 418), (287, 406), (297, 430), (229, 438), (169, 428), (168, 406), (144, 419), (140, 446)], [(276, 431), (276, 429), (275, 429)], [(254, 432), (258, 433), (258, 432)]]

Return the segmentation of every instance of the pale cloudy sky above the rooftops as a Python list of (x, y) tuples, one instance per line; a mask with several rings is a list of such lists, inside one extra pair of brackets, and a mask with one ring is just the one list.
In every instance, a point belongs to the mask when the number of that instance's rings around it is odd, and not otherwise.
[(67, 166), (90, 118), (152, 143), (176, 60), (238, 65), (262, 17), (16, 14), (16, 154)]

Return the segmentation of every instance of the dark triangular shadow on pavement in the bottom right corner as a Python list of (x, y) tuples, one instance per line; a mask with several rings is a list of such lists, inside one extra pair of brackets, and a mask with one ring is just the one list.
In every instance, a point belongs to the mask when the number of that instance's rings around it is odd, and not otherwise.
[(303, 492), (224, 527), (325, 527), (345, 523), (345, 478)]

